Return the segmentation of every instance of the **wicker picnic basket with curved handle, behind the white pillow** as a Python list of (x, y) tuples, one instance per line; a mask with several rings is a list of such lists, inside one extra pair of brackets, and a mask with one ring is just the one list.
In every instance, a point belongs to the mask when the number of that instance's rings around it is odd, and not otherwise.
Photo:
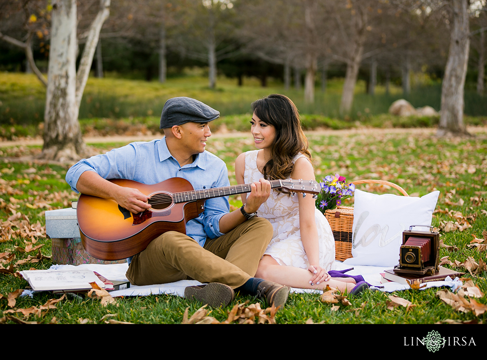
[[(383, 180), (357, 180), (352, 184), (381, 184), (399, 190), (404, 196), (409, 196), (399, 185)], [(343, 261), (352, 257), (352, 225), (354, 224), (354, 208), (338, 206), (325, 211), (325, 218), (330, 223), (335, 238), (335, 259)]]

